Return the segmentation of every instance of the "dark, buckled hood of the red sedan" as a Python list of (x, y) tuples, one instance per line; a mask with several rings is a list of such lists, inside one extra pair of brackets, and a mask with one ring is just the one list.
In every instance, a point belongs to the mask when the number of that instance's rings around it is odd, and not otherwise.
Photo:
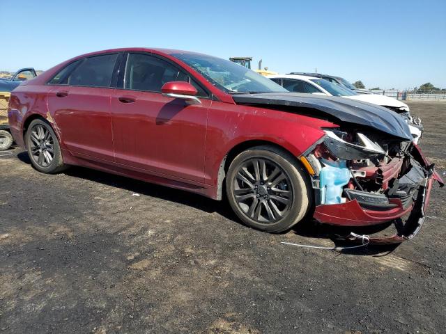
[(401, 116), (383, 106), (367, 102), (300, 93), (236, 94), (233, 95), (233, 100), (236, 104), (265, 106), (270, 109), (274, 106), (278, 109), (286, 106), (290, 112), (295, 113), (299, 113), (298, 108), (314, 109), (314, 117), (334, 117), (341, 122), (364, 125), (406, 141), (412, 140), (410, 129)]

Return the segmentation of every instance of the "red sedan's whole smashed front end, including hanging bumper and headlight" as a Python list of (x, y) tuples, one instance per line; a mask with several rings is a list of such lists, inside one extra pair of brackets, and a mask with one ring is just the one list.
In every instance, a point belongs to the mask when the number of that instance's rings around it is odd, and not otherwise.
[(415, 236), (424, 222), (433, 180), (443, 186), (417, 145), (382, 134), (325, 129), (323, 141), (300, 160), (312, 175), (314, 218), (321, 223), (368, 226), (408, 215), (397, 235), (371, 242), (388, 244)]

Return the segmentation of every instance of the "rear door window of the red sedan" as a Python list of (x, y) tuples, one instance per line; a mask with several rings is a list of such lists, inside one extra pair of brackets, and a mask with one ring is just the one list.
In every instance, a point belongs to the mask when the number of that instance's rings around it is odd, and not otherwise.
[(86, 58), (68, 77), (70, 86), (109, 87), (118, 54)]

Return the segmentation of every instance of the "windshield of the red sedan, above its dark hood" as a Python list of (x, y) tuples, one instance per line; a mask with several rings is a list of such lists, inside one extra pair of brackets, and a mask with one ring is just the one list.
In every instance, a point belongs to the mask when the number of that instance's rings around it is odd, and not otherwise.
[(288, 93), (274, 81), (232, 61), (203, 54), (171, 54), (226, 93)]

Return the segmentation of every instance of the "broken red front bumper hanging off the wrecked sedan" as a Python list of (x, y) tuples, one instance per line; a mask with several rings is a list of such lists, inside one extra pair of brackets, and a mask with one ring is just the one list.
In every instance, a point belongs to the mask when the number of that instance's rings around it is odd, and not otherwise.
[[(348, 202), (344, 202), (341, 204), (333, 204), (333, 205), (318, 205), (316, 206), (314, 212), (314, 218), (320, 221), (321, 223), (329, 223), (332, 225), (343, 225), (343, 226), (368, 226), (368, 225), (377, 225), (380, 223), (385, 223), (388, 221), (393, 221), (401, 216), (408, 214), (408, 219), (406, 223), (400, 227), (397, 232), (392, 237), (384, 237), (384, 238), (370, 238), (371, 244), (399, 244), (402, 241), (412, 239), (415, 235), (420, 231), (424, 219), (425, 212), (429, 205), (429, 198), (431, 194), (431, 187), (433, 180), (436, 180), (440, 186), (444, 185), (444, 182), (440, 175), (433, 170), (433, 165), (429, 164), (429, 161), (423, 156), (420, 148), (417, 145), (414, 145), (414, 153), (416, 155), (415, 159), (417, 159), (420, 164), (426, 170), (429, 170), (429, 175), (426, 177), (426, 180), (423, 185), (420, 185), (417, 191), (417, 198), (415, 201), (408, 207), (404, 207), (401, 200), (397, 198), (391, 198), (389, 200), (394, 207), (387, 210), (371, 210), (364, 209), (360, 205), (360, 203), (354, 199)], [(349, 238), (351, 239), (351, 238)], [(353, 237), (354, 239), (354, 237)]]

